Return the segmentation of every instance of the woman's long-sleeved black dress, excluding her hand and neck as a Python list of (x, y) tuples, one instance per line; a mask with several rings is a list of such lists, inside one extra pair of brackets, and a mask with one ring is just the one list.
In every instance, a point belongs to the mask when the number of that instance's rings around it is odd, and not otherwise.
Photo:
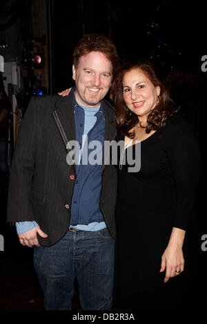
[[(124, 136), (119, 134), (116, 140), (124, 140)], [(132, 152), (135, 154), (135, 145)], [(120, 152), (118, 161), (119, 157)], [(141, 141), (139, 172), (129, 172), (128, 166), (117, 165), (113, 309), (189, 307), (198, 297), (194, 295), (198, 286), (194, 205), (200, 154), (186, 119), (181, 114), (170, 117), (166, 126)], [(164, 283), (165, 272), (159, 270), (172, 227), (187, 230), (183, 247), (185, 270)]]

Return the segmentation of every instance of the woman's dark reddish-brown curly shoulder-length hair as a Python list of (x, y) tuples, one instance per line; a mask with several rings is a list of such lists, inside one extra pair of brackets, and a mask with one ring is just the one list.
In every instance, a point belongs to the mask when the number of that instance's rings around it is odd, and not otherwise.
[(131, 112), (124, 102), (122, 81), (126, 72), (132, 69), (139, 69), (155, 87), (160, 88), (159, 103), (148, 114), (146, 133), (151, 130), (159, 130), (166, 125), (168, 117), (179, 111), (179, 107), (170, 98), (170, 90), (166, 81), (159, 75), (157, 69), (150, 61), (139, 61), (137, 63), (124, 63), (120, 66), (115, 74), (115, 79), (110, 89), (110, 99), (117, 110), (117, 130), (131, 139), (135, 137), (135, 132), (131, 132), (132, 128), (139, 122), (139, 117)]

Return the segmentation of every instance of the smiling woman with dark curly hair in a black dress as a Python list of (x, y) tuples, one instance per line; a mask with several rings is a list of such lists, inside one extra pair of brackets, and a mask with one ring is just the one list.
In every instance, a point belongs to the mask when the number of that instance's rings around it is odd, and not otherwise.
[[(150, 62), (122, 66), (110, 97), (117, 141), (125, 141), (117, 165), (114, 309), (188, 307), (188, 280), (195, 276), (184, 271), (183, 247), (187, 255), (184, 238), (193, 222), (200, 170), (197, 141)], [(135, 156), (136, 145), (141, 156)], [(139, 172), (129, 171), (123, 159), (130, 152), (141, 159)], [(196, 272), (196, 260), (194, 267)]]

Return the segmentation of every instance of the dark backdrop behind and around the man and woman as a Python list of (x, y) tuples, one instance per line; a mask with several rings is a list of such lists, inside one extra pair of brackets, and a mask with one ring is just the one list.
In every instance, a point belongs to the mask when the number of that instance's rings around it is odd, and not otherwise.
[[(10, 11), (5, 8), (10, 8)], [(207, 72), (201, 70), (203, 63), (201, 57), (207, 55), (205, 16), (205, 1), (189, 3), (177, 0), (1, 0), (0, 2), (0, 43), (10, 44), (4, 50), (0, 48), (0, 54), (5, 61), (13, 59), (20, 66), (19, 92), (15, 92), (12, 88), (10, 92), (17, 94), (19, 109), (23, 113), (35, 87), (41, 87), (44, 93), (57, 93), (73, 85), (72, 50), (83, 34), (88, 32), (111, 37), (121, 61), (150, 59), (155, 61), (168, 77), (172, 97), (181, 105), (181, 110), (197, 136), (202, 154), (203, 171), (197, 199), (199, 238), (195, 245), (200, 256), (199, 298), (203, 307), (207, 302), (207, 251), (201, 250), (201, 236), (207, 234), (205, 156)], [(8, 19), (5, 18), (3, 22), (3, 17)], [(10, 32), (11, 28), (14, 28), (15, 32)], [(35, 68), (30, 62), (32, 52), (35, 52), (35, 44), (44, 49), (45, 64), (41, 69)], [(10, 252), (8, 232), (6, 232), (6, 248)], [(25, 251), (23, 250), (24, 253), (29, 253)], [(0, 257), (5, 257), (6, 253), (7, 250), (0, 252)], [(195, 267), (198, 265), (195, 264)], [(0, 297), (0, 304), (1, 298), (3, 297)], [(8, 305), (6, 303), (4, 301), (4, 304)]]

